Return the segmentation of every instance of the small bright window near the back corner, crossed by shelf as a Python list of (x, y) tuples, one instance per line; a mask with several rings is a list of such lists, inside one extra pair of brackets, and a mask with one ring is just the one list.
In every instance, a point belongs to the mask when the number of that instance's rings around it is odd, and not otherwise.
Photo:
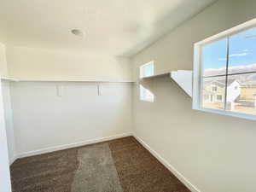
[[(151, 61), (140, 67), (140, 78), (146, 78), (154, 75), (154, 61)], [(154, 94), (140, 84), (140, 99), (145, 102), (154, 102)]]

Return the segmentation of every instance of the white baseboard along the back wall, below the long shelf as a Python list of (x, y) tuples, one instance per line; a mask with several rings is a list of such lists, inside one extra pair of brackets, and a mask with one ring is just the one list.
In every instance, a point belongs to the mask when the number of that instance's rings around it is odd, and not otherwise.
[(34, 156), (34, 155), (38, 155), (38, 154), (47, 154), (47, 153), (51, 153), (51, 152), (55, 152), (55, 151), (59, 151), (59, 150), (67, 149), (67, 148), (77, 148), (77, 147), (81, 147), (81, 146), (89, 145), (89, 144), (93, 144), (93, 143), (107, 142), (109, 140), (122, 138), (122, 137), (129, 137), (129, 136), (132, 136), (132, 132), (127, 132), (127, 133), (110, 136), (110, 137), (91, 139), (91, 140), (79, 142), (79, 143), (70, 143), (70, 144), (59, 145), (59, 146), (50, 147), (50, 148), (42, 148), (42, 149), (38, 149), (38, 150), (29, 151), (26, 153), (17, 154), (16, 159)]

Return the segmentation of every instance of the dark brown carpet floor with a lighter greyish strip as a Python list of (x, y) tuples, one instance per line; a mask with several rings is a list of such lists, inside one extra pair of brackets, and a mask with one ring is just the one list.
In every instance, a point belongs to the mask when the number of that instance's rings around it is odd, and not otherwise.
[(13, 192), (189, 192), (134, 137), (16, 160)]

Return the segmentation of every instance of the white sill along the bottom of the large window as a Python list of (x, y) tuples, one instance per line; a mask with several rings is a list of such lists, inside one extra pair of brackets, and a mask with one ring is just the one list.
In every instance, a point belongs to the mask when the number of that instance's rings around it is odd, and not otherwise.
[(256, 120), (256, 116), (244, 114), (244, 113), (233, 113), (233, 112), (219, 111), (219, 110), (207, 109), (207, 108), (193, 108), (193, 109), (197, 110), (197, 111), (202, 111), (202, 112), (207, 112), (207, 113), (217, 113), (217, 114), (236, 117), (236, 118), (240, 118), (240, 119)]

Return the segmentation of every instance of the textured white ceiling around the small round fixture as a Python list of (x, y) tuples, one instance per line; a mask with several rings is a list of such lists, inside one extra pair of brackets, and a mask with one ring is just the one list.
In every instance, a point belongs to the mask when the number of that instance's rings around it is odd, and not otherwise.
[(0, 37), (17, 46), (130, 56), (215, 1), (0, 0)]

